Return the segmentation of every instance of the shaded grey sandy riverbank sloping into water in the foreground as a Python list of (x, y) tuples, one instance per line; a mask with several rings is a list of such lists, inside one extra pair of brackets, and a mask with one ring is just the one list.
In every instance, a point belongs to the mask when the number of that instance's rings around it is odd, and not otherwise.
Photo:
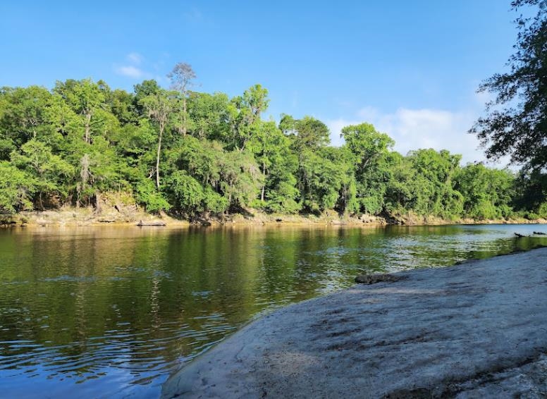
[(547, 248), (398, 276), (248, 324), (163, 398), (546, 395)]

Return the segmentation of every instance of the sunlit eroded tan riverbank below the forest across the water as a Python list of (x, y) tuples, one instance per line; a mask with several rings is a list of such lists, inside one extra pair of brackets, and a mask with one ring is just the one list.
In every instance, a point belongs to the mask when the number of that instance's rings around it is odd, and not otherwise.
[(414, 214), (384, 218), (374, 215), (340, 216), (334, 211), (321, 215), (266, 214), (257, 209), (249, 209), (245, 214), (229, 214), (223, 217), (206, 219), (177, 219), (168, 214), (149, 214), (135, 205), (102, 206), (100, 212), (93, 207), (64, 207), (47, 211), (22, 211), (13, 215), (0, 215), (0, 226), (135, 226), (142, 224), (165, 224), (166, 226), (231, 226), (231, 225), (348, 225), (348, 226), (437, 226), (445, 224), (536, 224), (547, 223), (546, 219), (441, 219), (436, 216), (418, 216)]

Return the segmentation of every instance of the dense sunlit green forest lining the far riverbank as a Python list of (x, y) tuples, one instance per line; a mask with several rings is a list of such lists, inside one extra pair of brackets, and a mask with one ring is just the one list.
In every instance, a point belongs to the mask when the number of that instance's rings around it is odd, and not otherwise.
[(0, 90), (0, 211), (97, 207), (118, 195), (152, 213), (197, 219), (260, 209), (276, 214), (444, 219), (547, 216), (541, 171), (460, 164), (446, 150), (402, 155), (373, 125), (342, 130), (310, 116), (265, 120), (268, 92), (233, 98), (191, 90), (179, 63), (170, 90), (134, 92), (66, 80)]

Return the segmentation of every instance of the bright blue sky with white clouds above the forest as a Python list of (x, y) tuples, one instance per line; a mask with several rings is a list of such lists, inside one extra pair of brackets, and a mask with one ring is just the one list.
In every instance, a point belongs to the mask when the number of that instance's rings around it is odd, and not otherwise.
[(368, 121), (395, 149), (445, 147), (482, 159), (465, 132), (503, 71), (516, 29), (509, 0), (5, 1), (0, 86), (104, 79), (168, 85), (178, 61), (199, 89), (260, 83), (269, 115), (312, 115), (339, 129)]

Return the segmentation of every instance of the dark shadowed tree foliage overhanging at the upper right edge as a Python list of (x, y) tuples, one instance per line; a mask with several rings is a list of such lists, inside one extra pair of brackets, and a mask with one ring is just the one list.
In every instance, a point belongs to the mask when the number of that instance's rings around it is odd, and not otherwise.
[(541, 170), (547, 166), (547, 1), (512, 1), (513, 8), (522, 6), (535, 6), (536, 16), (517, 18), (510, 71), (493, 75), (479, 87), (479, 92), (496, 98), (469, 132), (487, 147), (488, 158), (510, 155), (515, 164)]

